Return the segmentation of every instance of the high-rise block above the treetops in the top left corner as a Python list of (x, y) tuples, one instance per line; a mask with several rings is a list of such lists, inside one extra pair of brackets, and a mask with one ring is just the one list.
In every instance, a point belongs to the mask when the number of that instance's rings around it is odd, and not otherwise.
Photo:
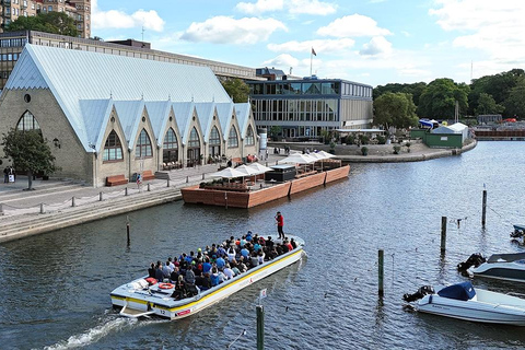
[(38, 13), (63, 12), (74, 20), (79, 37), (91, 36), (90, 0), (2, 0), (0, 4), (0, 33), (20, 16)]

